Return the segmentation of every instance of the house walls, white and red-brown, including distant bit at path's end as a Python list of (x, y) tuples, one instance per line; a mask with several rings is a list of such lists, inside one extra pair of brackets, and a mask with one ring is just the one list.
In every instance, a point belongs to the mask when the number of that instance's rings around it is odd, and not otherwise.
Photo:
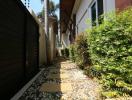
[[(86, 29), (92, 27), (91, 7), (94, 2), (97, 2), (97, 0), (76, 0), (71, 14), (72, 20), (73, 15), (76, 14), (76, 35), (78, 35), (79, 33), (83, 33)], [(114, 12), (117, 8), (122, 10), (130, 5), (132, 5), (132, 0), (103, 0), (103, 12), (104, 14), (107, 14), (110, 12)], [(96, 4), (96, 19), (97, 18), (98, 5)], [(98, 22), (96, 23), (96, 25), (98, 25)], [(66, 32), (66, 34), (68, 34), (68, 31)], [(64, 45), (67, 45), (67, 41), (69, 41), (66, 34), (62, 36)]]

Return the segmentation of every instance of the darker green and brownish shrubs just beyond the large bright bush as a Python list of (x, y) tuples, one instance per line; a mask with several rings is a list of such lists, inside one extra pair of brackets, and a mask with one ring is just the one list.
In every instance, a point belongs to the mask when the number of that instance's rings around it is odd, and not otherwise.
[(81, 68), (90, 65), (86, 33), (77, 36), (75, 43), (70, 46), (70, 59)]

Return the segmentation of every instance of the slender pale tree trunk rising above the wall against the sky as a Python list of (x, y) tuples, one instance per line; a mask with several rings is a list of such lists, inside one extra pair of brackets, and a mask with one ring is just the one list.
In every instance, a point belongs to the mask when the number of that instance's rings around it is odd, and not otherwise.
[(44, 11), (45, 11), (45, 33), (47, 38), (49, 38), (49, 14), (48, 14), (48, 4), (49, 0), (44, 0)]

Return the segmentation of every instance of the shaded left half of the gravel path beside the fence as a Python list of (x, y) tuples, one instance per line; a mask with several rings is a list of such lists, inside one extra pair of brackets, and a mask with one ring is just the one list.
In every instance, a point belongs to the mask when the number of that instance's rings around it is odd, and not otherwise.
[[(44, 69), (19, 100), (61, 100), (61, 63), (66, 59), (58, 57), (53, 65)], [(66, 88), (66, 87), (65, 87)]]

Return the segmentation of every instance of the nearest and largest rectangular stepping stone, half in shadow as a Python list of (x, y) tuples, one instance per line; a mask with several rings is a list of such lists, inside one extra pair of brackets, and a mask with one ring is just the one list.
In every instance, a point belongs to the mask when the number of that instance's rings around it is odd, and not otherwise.
[(69, 92), (72, 91), (71, 83), (44, 83), (42, 84), (40, 91), (42, 92)]

